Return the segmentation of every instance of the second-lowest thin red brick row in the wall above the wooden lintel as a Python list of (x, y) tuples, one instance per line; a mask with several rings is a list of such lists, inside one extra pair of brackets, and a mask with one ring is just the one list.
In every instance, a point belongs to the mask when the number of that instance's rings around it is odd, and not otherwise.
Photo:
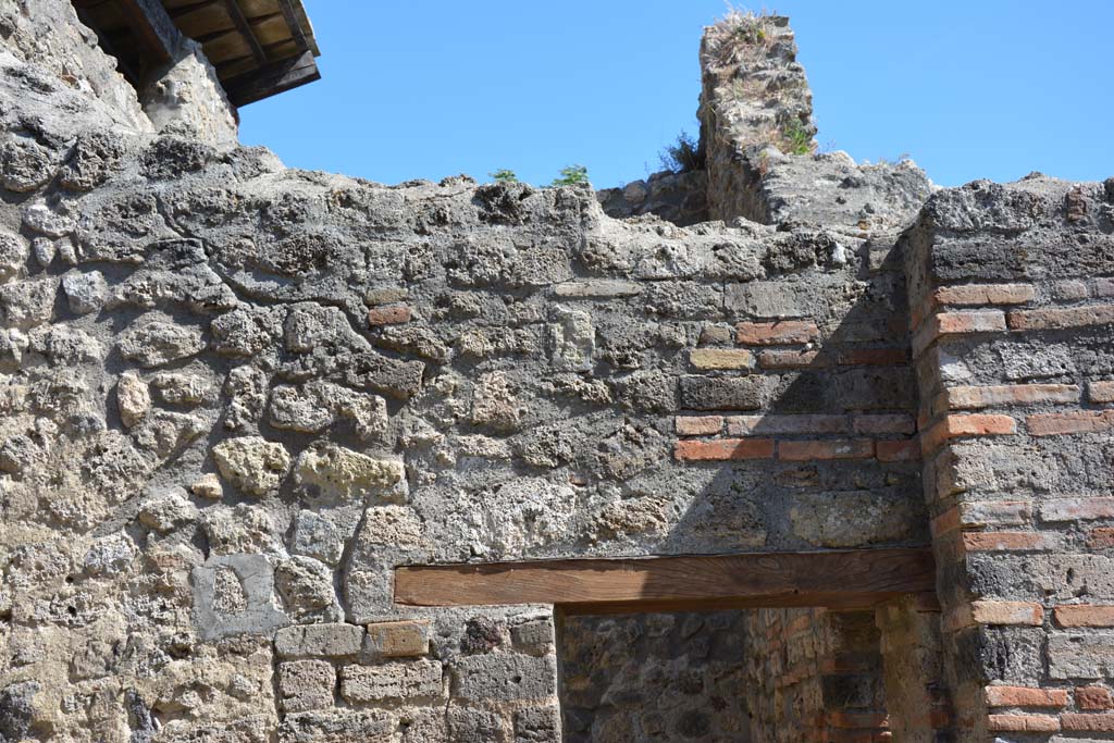
[(868, 436), (908, 436), (916, 432), (916, 421), (903, 413), (766, 414), (766, 416), (678, 416), (678, 436), (715, 436), (726, 428), (729, 436), (810, 436), (859, 433)]

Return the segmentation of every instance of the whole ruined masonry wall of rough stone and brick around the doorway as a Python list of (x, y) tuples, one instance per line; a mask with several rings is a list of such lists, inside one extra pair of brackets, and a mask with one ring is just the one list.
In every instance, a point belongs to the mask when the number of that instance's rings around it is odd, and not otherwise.
[[(863, 730), (1110, 730), (1108, 184), (753, 150), (705, 41), (731, 224), (616, 221), (290, 170), (216, 101), (154, 121), (69, 3), (0, 23), (0, 735), (558, 741), (553, 607), (397, 566), (928, 545), (942, 624), (879, 610)], [(800, 71), (753, 32), (709, 39)]]

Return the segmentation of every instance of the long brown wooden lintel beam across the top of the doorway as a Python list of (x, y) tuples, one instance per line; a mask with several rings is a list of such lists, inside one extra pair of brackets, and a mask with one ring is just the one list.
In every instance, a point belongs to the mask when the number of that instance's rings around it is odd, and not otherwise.
[(859, 549), (405, 566), (408, 606), (554, 604), (569, 614), (824, 606), (871, 608), (936, 592), (931, 550)]

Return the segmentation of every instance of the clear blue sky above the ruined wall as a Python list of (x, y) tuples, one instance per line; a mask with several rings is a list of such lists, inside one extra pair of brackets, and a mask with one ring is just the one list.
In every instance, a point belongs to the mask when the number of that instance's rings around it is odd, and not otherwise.
[[(242, 111), (290, 166), (381, 183), (497, 168), (597, 188), (696, 134), (722, 0), (304, 0), (323, 79)], [(1114, 2), (789, 0), (819, 141), (942, 185), (1114, 176)]]

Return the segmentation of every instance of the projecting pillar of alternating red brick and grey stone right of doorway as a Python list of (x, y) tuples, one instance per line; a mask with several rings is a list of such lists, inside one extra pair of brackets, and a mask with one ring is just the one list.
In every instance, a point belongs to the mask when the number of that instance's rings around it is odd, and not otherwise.
[(905, 241), (960, 740), (1114, 731), (1114, 182), (940, 192)]

